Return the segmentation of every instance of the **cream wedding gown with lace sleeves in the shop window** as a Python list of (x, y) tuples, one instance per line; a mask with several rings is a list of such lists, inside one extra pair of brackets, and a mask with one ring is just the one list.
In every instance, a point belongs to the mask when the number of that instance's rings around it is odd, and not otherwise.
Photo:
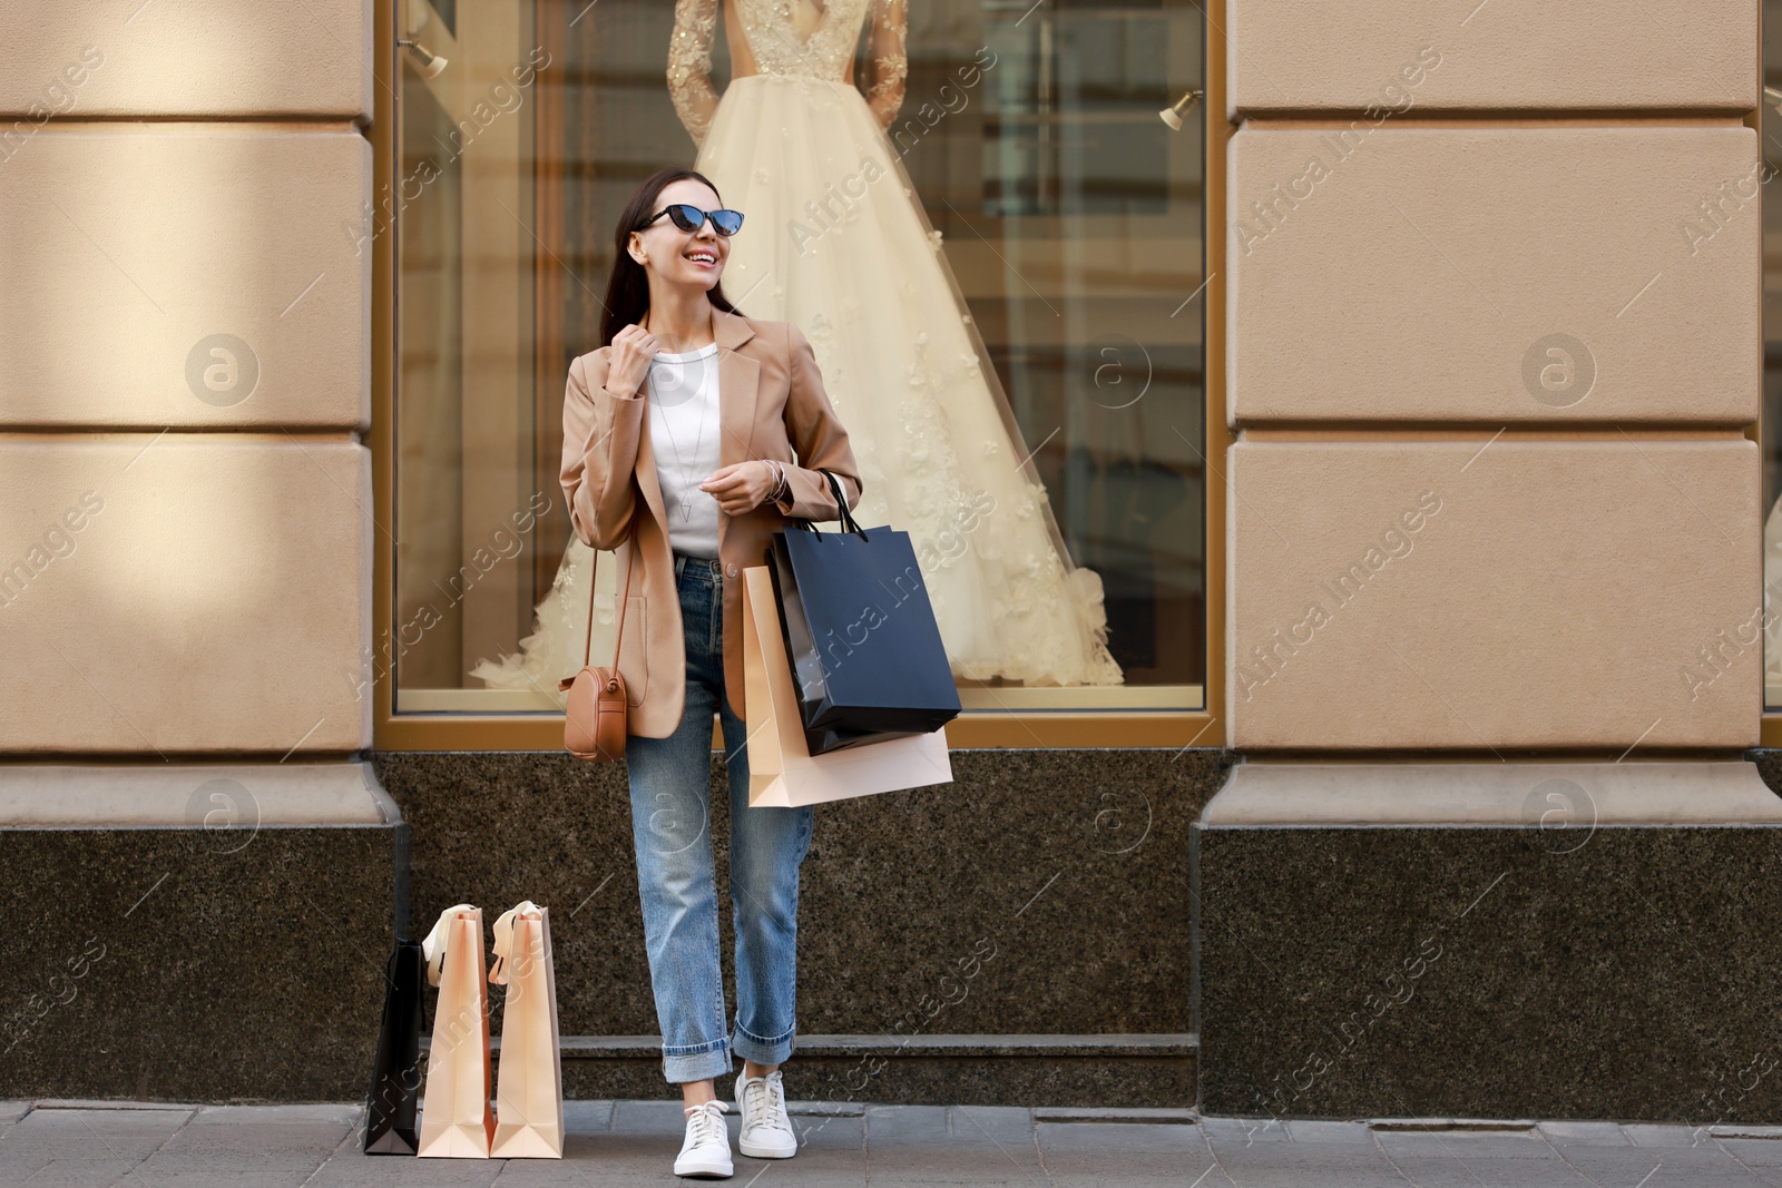
[[(811, 340), (861, 467), (855, 517), (909, 533), (955, 677), (1119, 684), (1101, 579), (1066, 556), (941, 233), (882, 130), (902, 105), (903, 0), (727, 0), (738, 77), (722, 100), (718, 2), (677, 0), (668, 80), (695, 167), (747, 219), (725, 296)], [(846, 80), (868, 16), (870, 102)], [(572, 536), (535, 634), (470, 675), (560, 698), (583, 664), (592, 557)], [(615, 572), (601, 565), (595, 663), (611, 652)]]

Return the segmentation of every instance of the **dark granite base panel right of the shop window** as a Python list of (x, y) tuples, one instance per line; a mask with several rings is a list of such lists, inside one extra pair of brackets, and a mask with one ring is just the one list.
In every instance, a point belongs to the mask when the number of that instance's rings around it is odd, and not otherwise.
[(1782, 1122), (1782, 828), (1194, 834), (1205, 1113)]

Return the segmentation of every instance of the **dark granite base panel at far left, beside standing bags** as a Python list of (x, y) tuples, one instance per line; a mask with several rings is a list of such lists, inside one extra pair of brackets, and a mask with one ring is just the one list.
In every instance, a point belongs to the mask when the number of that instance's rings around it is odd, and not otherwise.
[(0, 830), (0, 1099), (364, 1097), (405, 842)]

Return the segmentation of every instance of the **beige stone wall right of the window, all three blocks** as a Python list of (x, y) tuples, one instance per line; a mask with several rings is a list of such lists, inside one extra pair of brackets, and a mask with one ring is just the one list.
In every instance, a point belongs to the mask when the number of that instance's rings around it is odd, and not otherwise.
[(1231, 739), (1752, 746), (1757, 4), (1468, 7), (1231, 0)]

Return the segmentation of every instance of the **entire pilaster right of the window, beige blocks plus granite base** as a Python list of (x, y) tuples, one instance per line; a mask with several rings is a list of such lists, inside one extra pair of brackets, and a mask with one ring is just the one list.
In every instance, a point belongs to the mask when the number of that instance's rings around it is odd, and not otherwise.
[(1203, 1108), (1773, 1117), (1757, 5), (1468, 7), (1230, 4)]

